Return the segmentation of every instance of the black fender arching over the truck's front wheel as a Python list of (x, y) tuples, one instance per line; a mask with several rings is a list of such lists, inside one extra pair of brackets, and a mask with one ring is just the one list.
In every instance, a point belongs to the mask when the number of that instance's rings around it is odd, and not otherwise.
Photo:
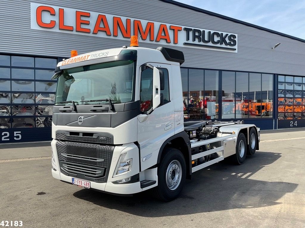
[[(159, 150), (159, 155), (158, 155), (158, 160), (157, 160), (157, 164), (160, 163), (161, 160), (161, 156), (162, 156), (162, 151), (163, 149), (166, 147), (167, 143), (172, 141), (172, 140), (179, 140), (181, 142), (181, 140), (183, 140), (181, 143), (183, 144), (184, 148), (187, 148), (187, 151), (181, 151), (182, 154), (185, 157), (185, 163), (186, 163), (186, 167), (189, 169), (187, 172), (187, 178), (191, 179), (192, 177), (192, 165), (190, 161), (192, 161), (192, 154), (191, 154), (191, 147), (189, 146), (189, 138), (188, 135), (185, 131), (181, 131), (178, 134), (175, 134), (173, 136), (171, 136), (170, 138), (168, 138), (161, 146), (160, 150)], [(175, 148), (175, 145), (173, 144), (173, 148)]]

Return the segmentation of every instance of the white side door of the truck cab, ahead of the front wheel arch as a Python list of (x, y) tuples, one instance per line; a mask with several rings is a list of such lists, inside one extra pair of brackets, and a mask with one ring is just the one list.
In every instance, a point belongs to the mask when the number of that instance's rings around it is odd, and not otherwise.
[[(161, 104), (152, 110), (153, 70), (140, 67), (140, 109), (138, 116), (138, 143), (141, 170), (156, 164), (160, 147), (174, 135), (174, 102), (171, 97), (172, 78), (169, 64), (148, 63), (164, 74), (164, 89), (160, 90)], [(144, 161), (143, 161), (144, 160)]]

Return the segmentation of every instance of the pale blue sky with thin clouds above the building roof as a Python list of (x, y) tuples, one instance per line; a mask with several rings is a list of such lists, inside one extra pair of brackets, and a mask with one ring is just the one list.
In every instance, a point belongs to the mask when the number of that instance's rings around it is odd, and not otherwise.
[(305, 40), (305, 0), (176, 0)]

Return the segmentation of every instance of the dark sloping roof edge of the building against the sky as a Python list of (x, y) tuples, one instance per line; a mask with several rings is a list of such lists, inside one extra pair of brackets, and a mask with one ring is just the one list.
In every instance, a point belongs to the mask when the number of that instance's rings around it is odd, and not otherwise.
[(187, 4), (184, 4), (184, 3), (181, 3), (181, 2), (176, 2), (176, 1), (173, 1), (173, 0), (160, 0), (160, 1), (167, 2), (167, 3), (170, 3), (170, 4), (174, 4), (174, 5), (178, 5), (178, 6), (181, 6), (181, 7), (184, 7), (184, 8), (192, 9), (192, 10), (195, 10), (195, 11), (198, 11), (198, 12), (206, 13), (206, 14), (209, 14), (211, 16), (216, 16), (216, 17), (219, 17), (219, 18), (222, 18), (222, 19), (237, 22), (237, 23), (240, 23), (240, 24), (243, 24), (243, 25), (246, 25), (246, 26), (261, 29), (261, 30), (264, 30), (264, 31), (267, 31), (267, 32), (270, 32), (270, 33), (274, 33), (274, 34), (277, 34), (277, 35), (280, 35), (280, 36), (285, 36), (285, 37), (291, 38), (293, 40), (298, 40), (298, 41), (301, 41), (301, 42), (305, 43), (305, 40), (303, 40), (301, 38), (298, 38), (298, 37), (295, 37), (295, 36), (290, 36), (290, 35), (285, 34), (285, 33), (277, 32), (277, 31), (272, 30), (272, 29), (267, 29), (267, 28), (264, 28), (264, 27), (261, 27), (261, 26), (258, 26), (258, 25), (254, 25), (254, 24), (245, 22), (245, 21), (241, 21), (241, 20), (238, 20), (238, 19), (234, 19), (234, 18), (231, 18), (231, 17), (228, 17), (228, 16), (218, 14), (218, 13), (214, 13), (214, 12), (211, 12), (211, 11), (208, 11), (208, 10), (205, 10), (205, 9), (200, 9), (198, 7), (195, 7), (195, 6), (187, 5)]

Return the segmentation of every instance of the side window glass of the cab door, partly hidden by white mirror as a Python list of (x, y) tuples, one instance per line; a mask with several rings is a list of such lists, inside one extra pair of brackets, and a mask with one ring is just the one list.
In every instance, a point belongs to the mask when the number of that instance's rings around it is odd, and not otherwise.
[[(160, 71), (163, 71), (164, 74), (164, 89), (160, 91), (160, 93), (163, 94), (163, 105), (164, 105), (170, 101), (168, 71), (165, 68), (158, 68), (158, 69)], [(141, 112), (146, 112), (152, 108), (152, 89), (153, 89), (152, 77), (153, 77), (153, 70), (151, 68), (146, 68), (141, 73), (141, 82), (140, 82)]]

